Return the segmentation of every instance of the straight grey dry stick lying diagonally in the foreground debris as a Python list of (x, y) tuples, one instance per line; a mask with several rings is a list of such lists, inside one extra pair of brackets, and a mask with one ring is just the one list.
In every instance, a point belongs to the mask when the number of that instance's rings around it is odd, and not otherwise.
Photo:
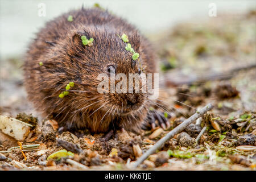
[(155, 143), (154, 146), (152, 146), (150, 149), (148, 149), (133, 165), (134, 168), (137, 168), (139, 166), (139, 164), (141, 164), (144, 160), (146, 160), (148, 158), (148, 156), (150, 156), (151, 154), (154, 154), (154, 152), (156, 150), (158, 150), (158, 148), (160, 148), (168, 139), (174, 137), (176, 134), (180, 133), (181, 131), (183, 131), (185, 129), (185, 127), (187, 127), (188, 125), (190, 125), (191, 123), (193, 123), (194, 121), (196, 121), (197, 118), (201, 117), (204, 113), (206, 113), (207, 111), (211, 110), (213, 108), (212, 104), (208, 104), (207, 106), (204, 106), (202, 109), (200, 109), (200, 111), (196, 111), (195, 114), (193, 114), (191, 117), (189, 117), (188, 119), (185, 119), (185, 121), (183, 121), (179, 126), (175, 127), (175, 129), (173, 129), (172, 131), (170, 131), (169, 133), (167, 133), (167, 135), (165, 137), (163, 137), (162, 139), (160, 139), (158, 142)]

